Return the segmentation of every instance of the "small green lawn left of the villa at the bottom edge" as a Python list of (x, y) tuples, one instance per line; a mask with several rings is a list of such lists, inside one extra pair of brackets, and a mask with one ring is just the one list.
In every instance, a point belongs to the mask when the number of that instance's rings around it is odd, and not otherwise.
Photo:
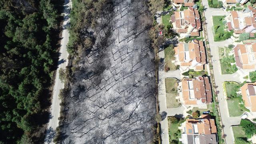
[(170, 142), (172, 140), (179, 140), (179, 138), (181, 138), (181, 130), (178, 129), (178, 127), (180, 126), (180, 122), (177, 124), (172, 124), (169, 120), (168, 123), (169, 123)]

